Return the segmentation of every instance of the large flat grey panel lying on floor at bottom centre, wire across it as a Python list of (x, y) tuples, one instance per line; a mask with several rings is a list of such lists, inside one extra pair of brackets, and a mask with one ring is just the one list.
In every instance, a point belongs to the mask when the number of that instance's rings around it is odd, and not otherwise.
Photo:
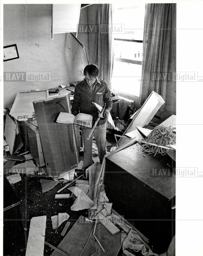
[[(94, 238), (92, 234), (90, 236), (90, 233), (93, 227), (94, 227), (94, 222), (85, 222), (85, 218), (83, 216), (80, 216), (80, 218), (76, 221), (74, 226), (66, 234), (66, 236), (61, 241), (61, 243), (59, 243), (57, 248), (69, 255), (74, 255), (74, 256), (87, 256), (95, 253), (96, 247), (95, 247)], [(90, 239), (88, 241), (89, 236), (90, 236)], [(95, 230), (95, 236), (98, 238), (98, 240), (100, 241), (101, 245), (105, 250), (105, 252), (103, 252), (99, 247), (99, 244), (96, 242), (97, 252), (94, 254), (95, 256), (104, 256), (104, 255), (117, 256), (118, 255), (118, 252), (120, 251), (120, 248), (121, 248), (120, 232), (116, 233), (115, 235), (112, 235), (102, 224), (98, 223)], [(85, 246), (87, 241), (88, 243)], [(60, 254), (57, 251), (54, 251), (51, 255), (60, 256), (63, 254)]]

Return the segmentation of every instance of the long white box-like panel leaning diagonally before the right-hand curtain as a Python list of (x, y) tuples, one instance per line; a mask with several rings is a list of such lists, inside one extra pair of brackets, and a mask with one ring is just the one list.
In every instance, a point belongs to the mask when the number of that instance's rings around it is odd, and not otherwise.
[[(135, 115), (134, 119), (129, 124), (123, 135), (131, 131), (137, 130), (136, 126), (143, 127), (147, 125), (164, 103), (165, 101), (162, 99), (162, 97), (158, 93), (152, 91), (145, 103), (137, 111), (137, 114)], [(125, 138), (120, 138), (120, 140), (118, 141), (118, 145), (121, 146), (126, 141), (127, 140)]]

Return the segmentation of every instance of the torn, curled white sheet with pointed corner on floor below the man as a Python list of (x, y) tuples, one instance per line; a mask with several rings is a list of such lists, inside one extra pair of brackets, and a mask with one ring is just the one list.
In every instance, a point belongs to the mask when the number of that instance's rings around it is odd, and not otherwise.
[(70, 207), (72, 211), (89, 209), (94, 206), (94, 202), (80, 188), (70, 187), (68, 189), (76, 196), (73, 205)]

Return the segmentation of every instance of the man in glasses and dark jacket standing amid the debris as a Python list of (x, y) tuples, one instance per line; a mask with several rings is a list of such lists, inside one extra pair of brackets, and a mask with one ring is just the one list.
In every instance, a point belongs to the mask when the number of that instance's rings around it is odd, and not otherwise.
[[(83, 73), (85, 78), (75, 87), (71, 111), (74, 115), (77, 115), (79, 112), (92, 115), (93, 127), (95, 121), (98, 119), (99, 113), (97, 108), (92, 104), (92, 102), (95, 102), (102, 107), (104, 107), (106, 103), (105, 110), (103, 112), (103, 118), (100, 119), (93, 132), (98, 147), (99, 160), (100, 163), (102, 163), (104, 155), (106, 154), (106, 121), (113, 105), (111, 99), (111, 91), (107, 83), (104, 80), (98, 78), (99, 69), (97, 65), (87, 65)], [(89, 140), (86, 140), (91, 129), (87, 127), (82, 127), (81, 131), (84, 142), (84, 161), (82, 167), (82, 170), (84, 171), (90, 165), (92, 165), (93, 134)]]

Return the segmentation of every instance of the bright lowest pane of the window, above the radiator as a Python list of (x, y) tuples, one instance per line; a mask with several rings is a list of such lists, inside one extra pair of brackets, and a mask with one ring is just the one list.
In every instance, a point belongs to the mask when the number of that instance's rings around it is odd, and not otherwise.
[(114, 61), (112, 89), (139, 96), (141, 72), (141, 65)]

